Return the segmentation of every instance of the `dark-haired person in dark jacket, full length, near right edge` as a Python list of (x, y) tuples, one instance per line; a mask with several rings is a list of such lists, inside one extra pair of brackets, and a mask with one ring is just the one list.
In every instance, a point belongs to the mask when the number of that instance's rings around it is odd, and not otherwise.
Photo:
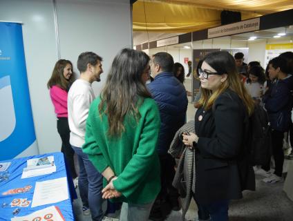
[[(268, 71), (270, 78), (276, 78), (268, 93), (263, 97), (272, 128), (272, 153), (275, 170), (272, 175), (263, 179), (263, 182), (273, 184), (282, 180), (283, 138), (284, 132), (289, 131), (291, 123), (292, 95), (290, 84), (292, 84), (293, 78), (287, 73), (287, 62), (283, 57), (275, 57), (270, 60)], [(266, 168), (270, 169), (270, 162), (267, 162)]]

